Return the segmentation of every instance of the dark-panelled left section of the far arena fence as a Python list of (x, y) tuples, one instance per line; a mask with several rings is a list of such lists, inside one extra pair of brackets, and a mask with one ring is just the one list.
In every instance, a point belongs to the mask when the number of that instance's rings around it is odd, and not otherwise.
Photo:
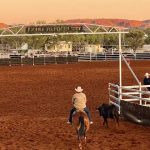
[(70, 64), (78, 62), (77, 56), (50, 56), (22, 57), (21, 55), (10, 55), (9, 58), (1, 58), (0, 65), (46, 65), (46, 64)]

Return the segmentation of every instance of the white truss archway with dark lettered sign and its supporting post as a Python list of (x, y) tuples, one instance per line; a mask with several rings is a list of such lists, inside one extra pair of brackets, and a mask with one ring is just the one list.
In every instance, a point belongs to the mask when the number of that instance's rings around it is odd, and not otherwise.
[[(120, 87), (122, 87), (121, 34), (128, 33), (127, 30), (127, 28), (111, 27), (88, 23), (17, 25), (0, 29), (0, 37), (118, 34), (120, 77), (119, 83)], [(121, 88), (119, 92), (122, 93)], [(120, 99), (122, 99), (122, 95), (120, 95)]]

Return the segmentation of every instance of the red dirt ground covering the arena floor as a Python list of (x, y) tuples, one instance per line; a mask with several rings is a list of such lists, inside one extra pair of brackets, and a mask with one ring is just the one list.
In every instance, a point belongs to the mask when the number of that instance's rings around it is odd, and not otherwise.
[[(150, 61), (132, 61), (138, 78)], [(95, 110), (108, 102), (108, 83), (118, 82), (118, 62), (0, 67), (0, 150), (78, 150), (73, 126), (66, 124), (71, 98), (80, 85), (93, 122), (87, 150), (149, 150), (150, 127), (120, 120), (109, 128)], [(123, 85), (136, 84), (123, 65)]]

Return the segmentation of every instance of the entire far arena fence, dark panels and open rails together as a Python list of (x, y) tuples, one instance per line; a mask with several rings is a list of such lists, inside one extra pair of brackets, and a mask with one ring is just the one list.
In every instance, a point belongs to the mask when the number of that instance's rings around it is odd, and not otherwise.
[[(127, 60), (150, 60), (150, 53), (123, 53), (122, 56)], [(61, 63), (74, 63), (78, 61), (109, 61), (109, 60), (119, 60), (119, 53), (79, 53), (78, 55), (63, 55), (63, 56), (51, 56), (43, 54), (40, 57), (21, 57), (21, 56), (11, 56), (7, 55), (7, 58), (0, 58), (0, 65), (38, 65), (38, 64), (61, 64)]]

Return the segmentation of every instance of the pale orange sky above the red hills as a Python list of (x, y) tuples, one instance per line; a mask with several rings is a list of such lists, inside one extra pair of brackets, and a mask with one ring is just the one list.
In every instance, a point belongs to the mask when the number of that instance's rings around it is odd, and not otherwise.
[(83, 18), (150, 19), (150, 0), (0, 0), (0, 5), (0, 22), (6, 24)]

